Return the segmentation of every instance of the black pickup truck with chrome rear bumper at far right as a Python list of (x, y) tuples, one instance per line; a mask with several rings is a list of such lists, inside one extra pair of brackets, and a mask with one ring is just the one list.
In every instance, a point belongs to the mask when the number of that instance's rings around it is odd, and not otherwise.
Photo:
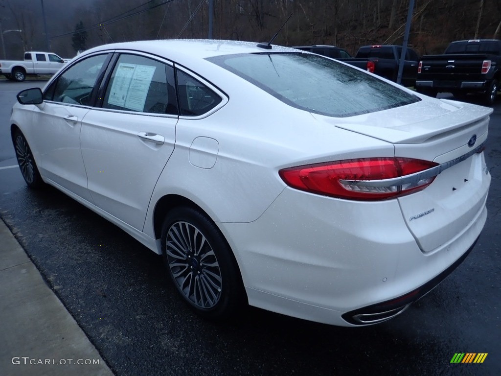
[(469, 93), (483, 96), (492, 105), (501, 78), (501, 41), (473, 39), (449, 44), (443, 55), (423, 56), (418, 66), (416, 90), (436, 96), (450, 92), (461, 99)]

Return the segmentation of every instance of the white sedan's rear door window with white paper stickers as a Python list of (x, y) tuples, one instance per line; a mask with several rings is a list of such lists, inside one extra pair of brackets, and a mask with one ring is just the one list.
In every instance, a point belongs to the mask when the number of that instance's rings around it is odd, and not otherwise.
[(103, 107), (177, 115), (173, 68), (144, 56), (121, 55), (106, 88)]

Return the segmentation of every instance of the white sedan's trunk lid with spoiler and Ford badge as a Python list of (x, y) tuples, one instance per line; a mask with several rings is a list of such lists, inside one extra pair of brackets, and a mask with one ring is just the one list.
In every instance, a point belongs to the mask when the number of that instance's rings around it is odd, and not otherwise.
[(466, 103), (423, 100), (388, 110), (388, 117), (380, 112), (324, 120), (393, 143), (395, 156), (445, 163), (447, 168), (426, 189), (397, 199), (409, 231), (426, 253), (466, 229), (483, 208), (490, 176), (483, 153), (474, 151), (487, 137), (491, 112)]

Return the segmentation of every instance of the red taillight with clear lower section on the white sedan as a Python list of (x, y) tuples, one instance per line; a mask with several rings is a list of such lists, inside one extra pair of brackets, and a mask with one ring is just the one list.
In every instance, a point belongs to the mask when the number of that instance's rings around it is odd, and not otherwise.
[(436, 165), (411, 158), (361, 158), (284, 168), (279, 174), (287, 185), (301, 191), (347, 200), (374, 201), (424, 189), (435, 175), (416, 174), (410, 178), (408, 175)]

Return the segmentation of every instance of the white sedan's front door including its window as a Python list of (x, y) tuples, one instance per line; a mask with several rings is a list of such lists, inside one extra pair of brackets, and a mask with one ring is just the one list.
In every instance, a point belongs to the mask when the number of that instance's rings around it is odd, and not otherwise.
[(42, 175), (89, 202), (92, 198), (80, 151), (80, 131), (82, 119), (92, 106), (94, 86), (108, 59), (108, 54), (99, 54), (72, 64), (49, 85), (43, 105), (34, 110)]

